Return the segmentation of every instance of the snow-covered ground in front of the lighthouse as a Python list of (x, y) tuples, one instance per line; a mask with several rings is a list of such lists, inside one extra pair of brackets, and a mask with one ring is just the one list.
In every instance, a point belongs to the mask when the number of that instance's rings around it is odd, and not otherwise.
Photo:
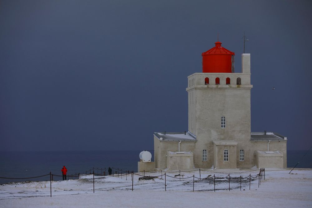
[[(245, 170), (246, 171), (246, 170)], [(286, 170), (266, 170), (266, 180), (249, 179), (242, 181), (228, 178), (214, 181), (195, 179), (193, 192), (193, 174), (199, 172), (181, 172), (184, 178), (166, 176), (165, 181), (159, 177), (154, 180), (139, 181), (134, 175), (132, 191), (131, 174), (126, 177), (95, 177), (95, 193), (93, 193), (93, 175), (77, 180), (52, 181), (52, 197), (50, 197), (50, 181), (17, 182), (0, 186), (0, 207), (306, 207), (312, 206), (312, 170), (295, 169), (291, 174)], [(256, 176), (258, 173), (246, 172), (230, 174), (231, 177)], [(143, 173), (140, 173), (143, 174)], [(178, 173), (167, 173), (174, 177)], [(201, 178), (216, 174), (226, 177), (226, 173), (202, 172)], [(145, 173), (156, 176), (160, 173)], [(192, 177), (185, 179), (185, 177)], [(244, 190), (245, 189), (245, 190)]]

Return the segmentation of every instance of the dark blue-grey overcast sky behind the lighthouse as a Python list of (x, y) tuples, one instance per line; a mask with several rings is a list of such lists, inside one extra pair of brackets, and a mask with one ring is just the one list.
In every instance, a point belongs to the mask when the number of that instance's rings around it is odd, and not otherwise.
[[(0, 1), (0, 150), (153, 149), (201, 53), (250, 40), (251, 131), (312, 145), (311, 1)], [(272, 90), (272, 87), (275, 90)]]

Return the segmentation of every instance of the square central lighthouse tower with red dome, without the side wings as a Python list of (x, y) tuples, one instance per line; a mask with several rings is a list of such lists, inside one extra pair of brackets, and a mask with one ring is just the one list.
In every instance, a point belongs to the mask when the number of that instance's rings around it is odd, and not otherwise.
[(234, 52), (215, 44), (202, 53), (202, 73), (188, 76), (188, 129), (197, 139), (194, 166), (250, 167), (251, 161), (240, 163), (236, 151), (250, 145), (250, 54), (241, 55), (242, 71), (234, 73)]

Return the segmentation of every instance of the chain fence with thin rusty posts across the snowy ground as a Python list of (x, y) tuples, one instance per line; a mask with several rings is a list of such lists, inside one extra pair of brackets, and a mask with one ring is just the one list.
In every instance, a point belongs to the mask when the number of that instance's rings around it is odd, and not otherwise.
[[(95, 173), (95, 170), (97, 170), (97, 173)], [(99, 170), (100, 173), (99, 173)], [(106, 172), (109, 171), (109, 172)], [(91, 172), (92, 171), (92, 172)], [(251, 175), (251, 173), (249, 175), (245, 175), (242, 176), (240, 175), (240, 177), (232, 177), (233, 174), (236, 175), (238, 173), (241, 174), (245, 174), (247, 172), (257, 172), (259, 171), (259, 173), (255, 174), (255, 175)], [(169, 175), (170, 173), (178, 173), (177, 175), (171, 176)], [(199, 177), (195, 177), (195, 174), (193, 174), (193, 176), (190, 177), (184, 177), (184, 175), (181, 175), (181, 172), (199, 172)], [(202, 172), (211, 172), (211, 173), (219, 173), (219, 174), (227, 174), (227, 176), (225, 177), (218, 177), (216, 176), (216, 174), (209, 175), (207, 177), (201, 177)], [(140, 174), (141, 173), (141, 174)], [(146, 176), (145, 173), (160, 173), (160, 175), (156, 175), (156, 176)], [(143, 175), (142, 175), (143, 174)], [(232, 176), (230, 175), (232, 174)], [(148, 172), (148, 171), (140, 171), (140, 172), (134, 172), (134, 171), (126, 171), (126, 170), (122, 170), (119, 168), (92, 168), (90, 170), (87, 170), (84, 172), (84, 174), (81, 173), (75, 173), (75, 174), (71, 174), (71, 175), (66, 175), (66, 177), (68, 177), (68, 179), (72, 179), (72, 180), (79, 180), (81, 177), (83, 176), (90, 176), (93, 175), (93, 193), (95, 192), (95, 176), (100, 176), (100, 177), (124, 177), (126, 180), (128, 180), (129, 176), (131, 178), (132, 181), (132, 191), (134, 190), (134, 175), (139, 176), (139, 180), (142, 179), (154, 179), (154, 178), (159, 178), (164, 180), (164, 190), (167, 191), (167, 177), (169, 178), (173, 178), (173, 179), (179, 179), (179, 181), (184, 180), (185, 179), (189, 179), (187, 180), (187, 182), (193, 182), (193, 191), (195, 188), (195, 182), (201, 182), (201, 181), (206, 181), (209, 184), (213, 184), (213, 190), (216, 191), (216, 185), (218, 185), (218, 183), (224, 183), (224, 179), (228, 181), (228, 190), (231, 191), (231, 183), (235, 183), (235, 184), (239, 184), (240, 185), (240, 190), (242, 187), (242, 184), (246, 185), (249, 182), (249, 190), (251, 189), (251, 181), (255, 181), (258, 180), (258, 188), (261, 185), (261, 181), (265, 180), (265, 168), (260, 168), (257, 170), (251, 170), (251, 171), (243, 171), (243, 172), (214, 172), (214, 171), (207, 171), (207, 170), (202, 170), (202, 169), (197, 169), (197, 170), (178, 170), (178, 171), (156, 171), (156, 172)], [(52, 181), (53, 178), (56, 177), (63, 177), (63, 175), (56, 175), (56, 174), (52, 174), (51, 172), (49, 174), (46, 175), (41, 175), (41, 176), (35, 176), (35, 177), (25, 177), (25, 178), (10, 178), (10, 177), (0, 177), (2, 179), (33, 179), (33, 178), (41, 178), (41, 177), (46, 177), (49, 176), (50, 177), (50, 196), (52, 197)], [(181, 178), (182, 176), (182, 178)], [(193, 179), (193, 180), (192, 180)]]

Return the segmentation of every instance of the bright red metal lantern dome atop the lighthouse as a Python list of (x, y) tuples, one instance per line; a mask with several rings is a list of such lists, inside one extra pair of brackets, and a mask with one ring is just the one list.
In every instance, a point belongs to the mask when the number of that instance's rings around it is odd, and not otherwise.
[(231, 73), (234, 72), (235, 53), (215, 42), (216, 46), (202, 53), (203, 73)]

